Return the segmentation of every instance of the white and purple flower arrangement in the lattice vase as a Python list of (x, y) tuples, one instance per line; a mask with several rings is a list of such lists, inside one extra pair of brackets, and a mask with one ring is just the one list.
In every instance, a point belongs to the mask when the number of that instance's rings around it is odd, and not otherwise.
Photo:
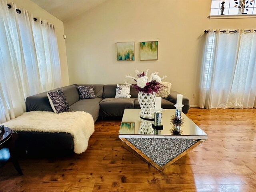
[(132, 77), (130, 75), (126, 75), (125, 77), (132, 78), (136, 82), (136, 84), (125, 84), (135, 87), (137, 91), (149, 94), (152, 92), (158, 92), (160, 88), (164, 87), (161, 82), (162, 79), (166, 78), (166, 76), (161, 78), (160, 76), (158, 76), (158, 72), (154, 72), (150, 75), (150, 78), (148, 78), (148, 70), (146, 70), (146, 73), (144, 71), (142, 73), (140, 73), (138, 70), (135, 71), (138, 78)]

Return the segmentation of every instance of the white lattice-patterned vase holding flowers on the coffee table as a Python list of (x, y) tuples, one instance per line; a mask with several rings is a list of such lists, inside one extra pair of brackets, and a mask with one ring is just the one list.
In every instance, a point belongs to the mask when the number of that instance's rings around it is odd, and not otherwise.
[(138, 93), (138, 102), (141, 108), (140, 116), (145, 118), (151, 117), (151, 110), (155, 106), (155, 99), (156, 94), (154, 92), (144, 93), (140, 91)]

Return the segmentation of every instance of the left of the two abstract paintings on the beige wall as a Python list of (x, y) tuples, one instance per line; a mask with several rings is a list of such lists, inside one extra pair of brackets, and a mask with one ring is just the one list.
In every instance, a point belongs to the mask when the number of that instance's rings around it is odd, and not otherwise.
[(117, 42), (117, 60), (134, 61), (134, 42)]

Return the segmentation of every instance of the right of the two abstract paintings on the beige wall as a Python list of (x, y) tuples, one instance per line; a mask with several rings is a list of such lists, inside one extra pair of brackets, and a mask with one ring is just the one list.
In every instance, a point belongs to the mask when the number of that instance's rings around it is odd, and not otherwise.
[(157, 60), (157, 41), (140, 42), (140, 60)]

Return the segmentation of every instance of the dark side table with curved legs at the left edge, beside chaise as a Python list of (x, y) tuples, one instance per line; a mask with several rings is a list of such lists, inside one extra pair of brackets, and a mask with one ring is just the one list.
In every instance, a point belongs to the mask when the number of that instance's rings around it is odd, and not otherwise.
[[(4, 148), (8, 148), (10, 152), (10, 160), (12, 161), (12, 164), (14, 165), (18, 173), (20, 175), (23, 175), (22, 170), (20, 169), (20, 165), (18, 163), (17, 154), (15, 152), (15, 141), (18, 138), (18, 134), (13, 132), (8, 127), (4, 127), (4, 131), (5, 132), (3, 136), (0, 138), (0, 152), (2, 153), (2, 150), (4, 150)], [(5, 163), (2, 164), (2, 160), (1, 160), (1, 167), (4, 166), (4, 164)]]

